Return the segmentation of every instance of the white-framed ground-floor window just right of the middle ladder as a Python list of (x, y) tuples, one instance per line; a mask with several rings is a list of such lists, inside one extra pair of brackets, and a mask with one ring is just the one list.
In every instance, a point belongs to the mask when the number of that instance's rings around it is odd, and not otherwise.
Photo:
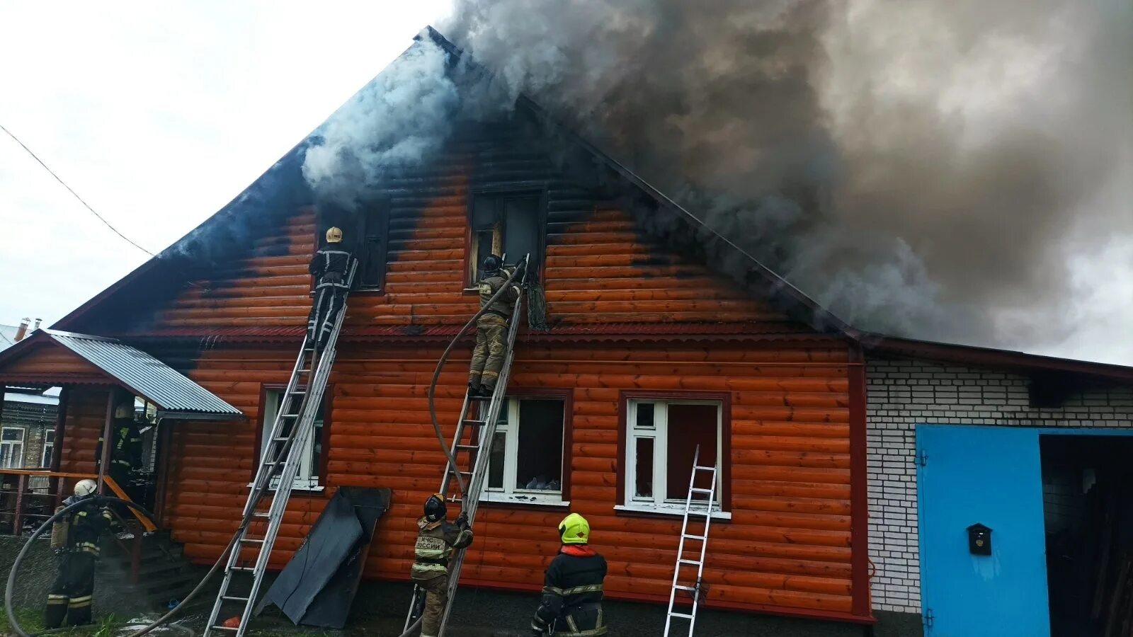
[(488, 445), (488, 479), (482, 499), (562, 503), (563, 422), (561, 398), (509, 398)]

